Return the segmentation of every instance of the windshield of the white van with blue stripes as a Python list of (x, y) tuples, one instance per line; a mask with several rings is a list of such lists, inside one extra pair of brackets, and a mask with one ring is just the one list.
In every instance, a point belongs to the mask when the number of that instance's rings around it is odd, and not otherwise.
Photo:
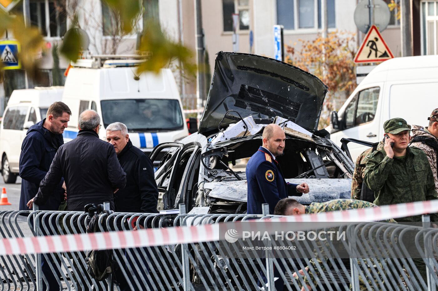
[(113, 122), (124, 123), (129, 132), (184, 128), (180, 102), (175, 99), (102, 100), (100, 105), (105, 128)]

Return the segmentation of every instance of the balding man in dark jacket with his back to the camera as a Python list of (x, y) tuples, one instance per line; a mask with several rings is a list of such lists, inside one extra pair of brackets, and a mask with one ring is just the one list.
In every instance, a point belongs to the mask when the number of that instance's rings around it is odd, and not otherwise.
[(110, 203), (114, 207), (114, 192), (125, 187), (126, 173), (117, 160), (114, 147), (99, 139), (100, 117), (94, 110), (79, 116), (76, 139), (62, 145), (55, 155), (46, 177), (39, 184), (36, 196), (28, 202), (32, 207), (44, 204), (64, 177), (67, 186), (67, 210), (84, 211), (89, 203)]

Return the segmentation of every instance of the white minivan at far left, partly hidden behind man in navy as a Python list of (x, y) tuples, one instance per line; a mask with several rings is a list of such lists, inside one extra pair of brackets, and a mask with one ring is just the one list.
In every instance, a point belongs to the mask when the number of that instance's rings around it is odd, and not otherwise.
[(32, 125), (46, 118), (47, 109), (62, 98), (64, 87), (35, 87), (14, 90), (7, 102), (0, 127), (2, 176), (5, 183), (15, 183), (21, 144)]

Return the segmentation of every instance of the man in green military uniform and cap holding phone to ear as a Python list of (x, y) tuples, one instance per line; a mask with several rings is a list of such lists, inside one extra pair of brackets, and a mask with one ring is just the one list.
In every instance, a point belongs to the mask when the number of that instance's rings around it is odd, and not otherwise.
[[(392, 118), (383, 125), (384, 147), (367, 156), (364, 182), (374, 191), (374, 204), (388, 205), (437, 199), (435, 183), (426, 154), (408, 147), (410, 125), (402, 118)], [(391, 143), (393, 145), (391, 146)], [(431, 215), (438, 221), (437, 214)], [(420, 215), (397, 218), (420, 222)]]

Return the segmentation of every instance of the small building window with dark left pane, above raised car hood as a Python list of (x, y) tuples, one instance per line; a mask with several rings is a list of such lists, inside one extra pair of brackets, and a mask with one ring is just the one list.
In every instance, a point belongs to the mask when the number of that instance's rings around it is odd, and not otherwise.
[(236, 31), (249, 30), (249, 0), (223, 0), (223, 31), (233, 31), (233, 14), (239, 14)]

